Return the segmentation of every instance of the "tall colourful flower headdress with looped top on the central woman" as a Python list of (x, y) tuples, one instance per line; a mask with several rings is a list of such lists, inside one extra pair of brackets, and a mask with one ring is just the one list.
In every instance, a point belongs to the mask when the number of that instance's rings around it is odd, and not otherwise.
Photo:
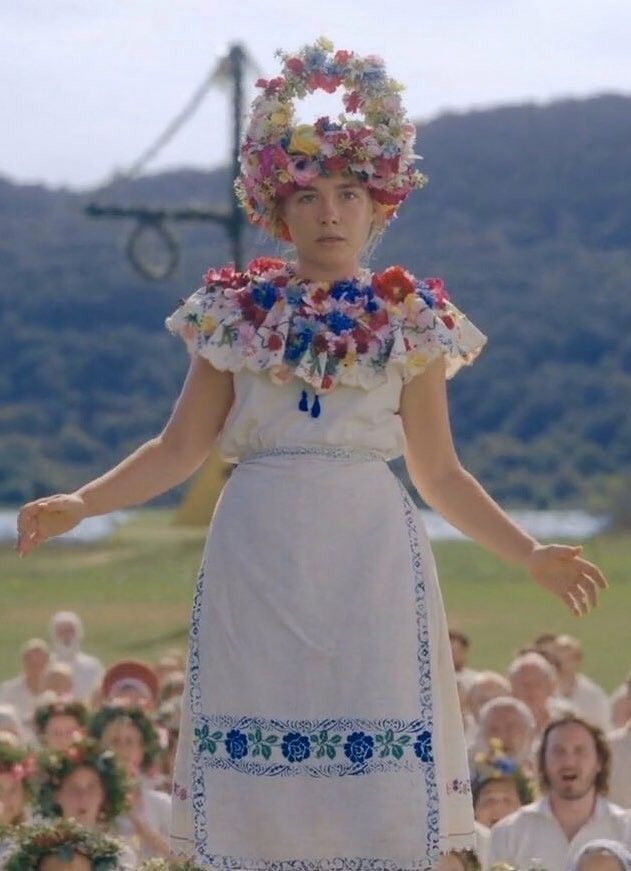
[[(319, 175), (352, 173), (365, 182), (386, 219), (396, 213), (414, 188), (427, 177), (414, 169), (416, 128), (401, 102), (403, 85), (387, 76), (383, 60), (335, 51), (320, 37), (290, 55), (280, 49), (281, 75), (259, 79), (262, 88), (252, 103), (249, 126), (241, 146), (237, 197), (251, 223), (272, 236), (288, 238), (277, 216), (280, 199), (307, 186)], [(317, 90), (344, 88), (347, 112), (314, 124), (296, 125), (293, 100)]]

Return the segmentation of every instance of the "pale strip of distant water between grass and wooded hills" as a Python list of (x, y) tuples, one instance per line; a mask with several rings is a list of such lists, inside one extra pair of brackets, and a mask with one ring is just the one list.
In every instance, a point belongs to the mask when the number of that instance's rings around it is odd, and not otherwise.
[[(585, 511), (527, 511), (514, 510), (509, 516), (526, 532), (535, 538), (591, 538), (609, 525), (605, 515), (594, 516)], [(134, 511), (114, 511), (99, 517), (88, 517), (70, 532), (58, 537), (60, 542), (81, 544), (99, 541), (113, 532), (117, 526), (133, 517)], [(440, 515), (433, 511), (421, 510), (423, 522), (432, 541), (466, 539), (460, 530), (454, 529)], [(17, 511), (0, 510), (0, 542), (16, 539)]]

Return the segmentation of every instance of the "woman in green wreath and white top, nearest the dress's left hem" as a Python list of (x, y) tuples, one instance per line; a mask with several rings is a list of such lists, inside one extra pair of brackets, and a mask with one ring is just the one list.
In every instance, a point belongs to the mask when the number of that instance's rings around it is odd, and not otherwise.
[(116, 831), (140, 859), (167, 856), (171, 798), (149, 781), (160, 750), (153, 722), (140, 707), (103, 705), (92, 717), (90, 734), (104, 750), (116, 754), (131, 784), (130, 807), (116, 821)]

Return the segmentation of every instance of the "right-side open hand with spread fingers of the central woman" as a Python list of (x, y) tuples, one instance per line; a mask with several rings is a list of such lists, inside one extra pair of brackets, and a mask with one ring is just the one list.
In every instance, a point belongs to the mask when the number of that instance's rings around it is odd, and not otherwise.
[(576, 617), (595, 607), (598, 590), (609, 586), (598, 566), (580, 556), (582, 550), (581, 545), (539, 544), (526, 561), (534, 582), (562, 599)]

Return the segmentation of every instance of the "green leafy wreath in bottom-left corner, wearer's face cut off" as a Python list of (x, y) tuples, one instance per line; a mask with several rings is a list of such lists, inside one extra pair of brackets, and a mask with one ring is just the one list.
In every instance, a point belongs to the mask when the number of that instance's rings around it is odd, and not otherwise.
[(70, 862), (76, 853), (90, 860), (93, 871), (115, 871), (123, 849), (120, 841), (75, 820), (12, 827), (3, 834), (18, 844), (3, 866), (6, 871), (37, 871), (47, 856)]

